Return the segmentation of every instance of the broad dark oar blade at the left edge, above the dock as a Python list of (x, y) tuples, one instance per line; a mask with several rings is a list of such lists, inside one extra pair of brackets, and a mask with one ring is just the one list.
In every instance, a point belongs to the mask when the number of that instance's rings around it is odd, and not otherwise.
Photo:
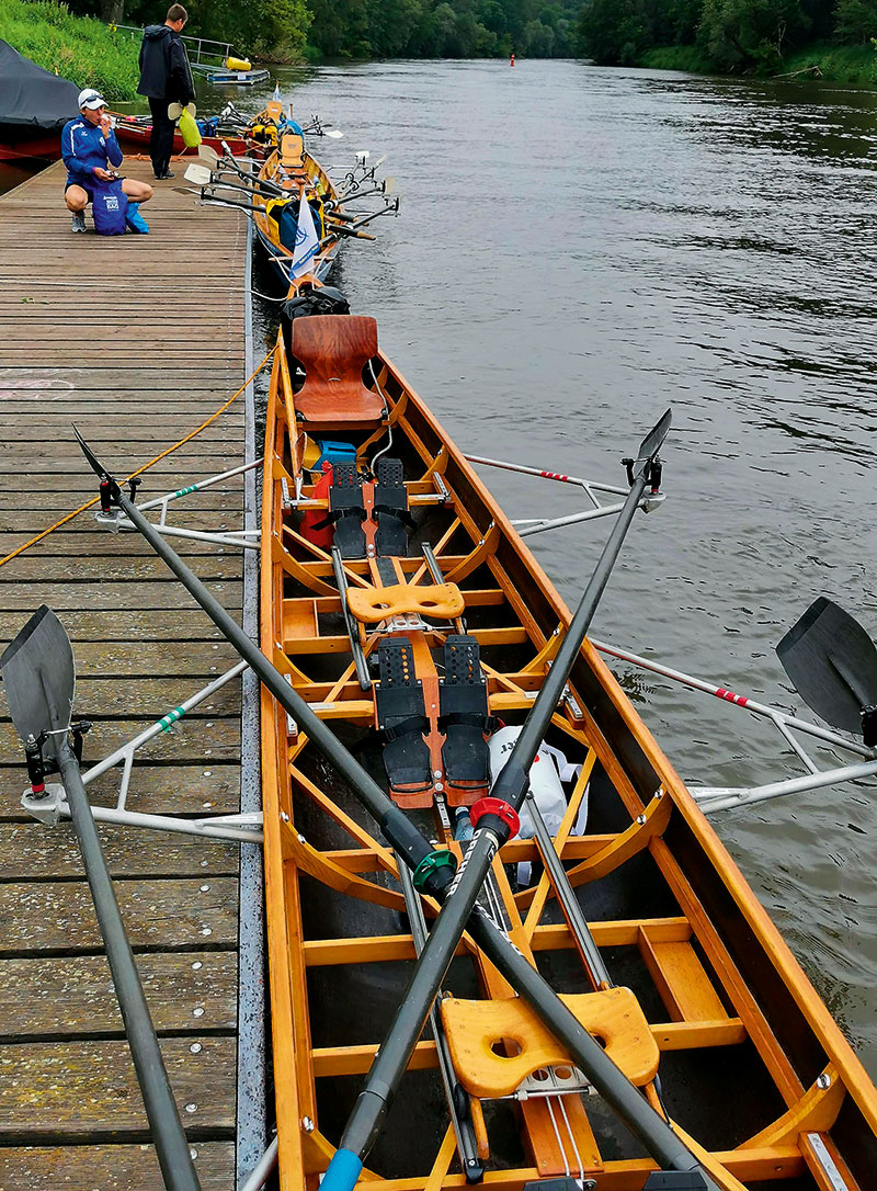
[[(21, 740), (68, 727), (76, 688), (73, 649), (61, 621), (45, 604), (6, 647), (0, 671), (10, 715)], [(57, 740), (48, 738), (45, 754), (55, 755)]]

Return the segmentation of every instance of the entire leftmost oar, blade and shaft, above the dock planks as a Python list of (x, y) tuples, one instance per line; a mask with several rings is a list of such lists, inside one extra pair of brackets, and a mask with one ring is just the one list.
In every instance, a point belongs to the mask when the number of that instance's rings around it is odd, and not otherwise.
[(73, 649), (63, 625), (45, 604), (7, 646), (0, 669), (10, 715), (25, 742), (35, 794), (45, 788), (45, 772), (57, 768), (61, 773), (164, 1185), (169, 1191), (200, 1191), (77, 755), (70, 747), (76, 682)]

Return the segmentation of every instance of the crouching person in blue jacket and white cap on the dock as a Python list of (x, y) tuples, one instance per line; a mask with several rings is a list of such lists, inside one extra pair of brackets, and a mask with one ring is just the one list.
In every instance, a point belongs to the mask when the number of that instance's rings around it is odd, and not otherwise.
[[(93, 87), (80, 92), (80, 114), (68, 120), (61, 133), (61, 156), (67, 166), (64, 202), (73, 214), (73, 230), (86, 230), (86, 206), (94, 197), (95, 182), (108, 182), (114, 167), (121, 166), (121, 149), (106, 114), (106, 100)], [(152, 187), (133, 177), (123, 180), (121, 189), (132, 202), (146, 202)]]

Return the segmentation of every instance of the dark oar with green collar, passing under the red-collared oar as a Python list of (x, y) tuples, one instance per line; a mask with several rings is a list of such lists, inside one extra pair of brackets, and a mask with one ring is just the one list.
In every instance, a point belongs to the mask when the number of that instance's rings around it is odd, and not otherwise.
[[(293, 690), (265, 655), (243, 632), (236, 621), (223, 605), (207, 591), (205, 585), (189, 570), (180, 556), (168, 545), (155, 526), (143, 516), (132, 500), (109, 475), (92, 449), (74, 429), (80, 447), (98, 476), (101, 485), (101, 506), (111, 511), (115, 504), (131, 524), (139, 530), (156, 554), (177, 576), (189, 594), (213, 621), (232, 648), (246, 661), (277, 703), (302, 727), (314, 748), (336, 768), (347, 782), (350, 790), (364, 809), (377, 821), (377, 824), (396, 849), (401, 859), (414, 873), (414, 884), (422, 896), (439, 899), (453, 887), (455, 861), (450, 852), (433, 849), (416, 827), (397, 807), (369, 773), (353, 759), (333, 732), (315, 715), (308, 703)], [(656, 447), (657, 450), (657, 447)], [(645, 461), (644, 466), (645, 466)], [(638, 493), (641, 490), (638, 490)], [(637, 497), (639, 499), (639, 495)], [(633, 507), (635, 509), (635, 501)], [(632, 513), (631, 513), (632, 516)], [(476, 831), (476, 837), (487, 835), (484, 829)], [(472, 846), (476, 840), (474, 838)], [(466, 855), (466, 865), (471, 856)], [(700, 1171), (700, 1162), (681, 1142), (666, 1121), (654, 1111), (626, 1075), (615, 1066), (603, 1048), (584, 1029), (575, 1015), (564, 1005), (557, 993), (537, 969), (525, 959), (512, 941), (499, 929), (481, 906), (475, 906), (468, 922), (468, 929), (488, 959), (506, 977), (513, 989), (525, 998), (564, 1047), (570, 1059), (585, 1074), (607, 1104), (619, 1115), (628, 1129), (637, 1136), (666, 1171)], [(437, 986), (444, 973), (438, 977)], [(420, 1024), (426, 1019), (426, 1012), (434, 993), (426, 1004)], [(378, 1095), (372, 1090), (372, 1096)], [(381, 1098), (381, 1115), (388, 1108), (387, 1098)], [(362, 1160), (352, 1152), (339, 1151), (342, 1156), (336, 1164), (336, 1173), (343, 1183), (352, 1186), (362, 1168)], [(704, 1176), (706, 1191), (719, 1191), (714, 1181)]]

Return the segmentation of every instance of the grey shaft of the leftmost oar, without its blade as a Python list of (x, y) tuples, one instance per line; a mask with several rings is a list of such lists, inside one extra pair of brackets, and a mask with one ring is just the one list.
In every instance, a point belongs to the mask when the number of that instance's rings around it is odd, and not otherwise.
[(58, 765), (164, 1185), (168, 1191), (200, 1191), (80, 767), (67, 740), (58, 747)]

